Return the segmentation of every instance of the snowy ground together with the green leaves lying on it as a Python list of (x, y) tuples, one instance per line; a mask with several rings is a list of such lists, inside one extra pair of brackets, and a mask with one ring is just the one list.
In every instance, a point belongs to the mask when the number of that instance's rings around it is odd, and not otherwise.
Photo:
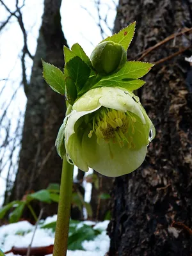
[[(106, 228), (109, 221), (70, 221), (67, 256), (104, 256), (109, 249)], [(35, 231), (32, 248), (54, 244), (56, 215), (41, 220)], [(17, 248), (28, 248), (35, 226), (28, 221), (19, 221), (0, 227), (0, 248), (3, 252)], [(15, 252), (14, 252), (15, 253)], [(20, 255), (10, 252), (7, 256)], [(52, 256), (52, 254), (47, 254)]]

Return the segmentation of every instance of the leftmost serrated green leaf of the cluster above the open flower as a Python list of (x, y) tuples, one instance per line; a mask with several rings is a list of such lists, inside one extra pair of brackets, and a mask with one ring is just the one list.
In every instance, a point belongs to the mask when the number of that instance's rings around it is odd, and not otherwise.
[(45, 61), (42, 61), (43, 64), (43, 77), (47, 84), (57, 93), (61, 95), (65, 94), (65, 77), (60, 68), (54, 67)]

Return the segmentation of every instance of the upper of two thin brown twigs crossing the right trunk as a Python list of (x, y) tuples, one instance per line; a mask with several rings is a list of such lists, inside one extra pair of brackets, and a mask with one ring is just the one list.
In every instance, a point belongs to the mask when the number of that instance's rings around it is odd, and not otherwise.
[(174, 33), (166, 38), (164, 38), (161, 42), (157, 43), (156, 45), (149, 47), (148, 49), (140, 52), (138, 55), (142, 54), (140, 58), (138, 58), (138, 61), (142, 60), (145, 56), (147, 56), (147, 54), (155, 49), (157, 49), (159, 46), (165, 44), (166, 42), (174, 39), (176, 36), (180, 36), (183, 35), (184, 33), (188, 33), (191, 32), (192, 28), (185, 28), (182, 31), (180, 31), (179, 33)]

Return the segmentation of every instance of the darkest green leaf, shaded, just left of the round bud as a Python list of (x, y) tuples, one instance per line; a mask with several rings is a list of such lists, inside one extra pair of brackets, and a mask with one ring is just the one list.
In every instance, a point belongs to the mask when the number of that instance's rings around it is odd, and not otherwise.
[[(81, 91), (88, 77), (90, 76), (90, 67), (84, 63), (79, 57), (75, 57), (68, 61), (65, 65), (70, 78), (74, 81), (77, 93)], [(67, 83), (67, 81), (66, 81)]]

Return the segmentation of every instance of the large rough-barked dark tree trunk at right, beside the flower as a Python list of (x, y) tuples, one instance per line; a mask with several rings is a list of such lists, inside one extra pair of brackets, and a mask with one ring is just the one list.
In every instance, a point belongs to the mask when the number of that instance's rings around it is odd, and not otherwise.
[[(120, 0), (115, 31), (136, 20), (128, 58), (166, 36), (192, 26), (192, 1)], [(191, 44), (176, 38), (148, 54), (155, 62)], [(109, 255), (172, 255), (192, 253), (191, 236), (173, 228), (173, 221), (192, 227), (192, 95), (185, 84), (189, 64), (184, 54), (152, 68), (139, 90), (140, 100), (156, 127), (145, 162), (135, 172), (115, 179)]]

